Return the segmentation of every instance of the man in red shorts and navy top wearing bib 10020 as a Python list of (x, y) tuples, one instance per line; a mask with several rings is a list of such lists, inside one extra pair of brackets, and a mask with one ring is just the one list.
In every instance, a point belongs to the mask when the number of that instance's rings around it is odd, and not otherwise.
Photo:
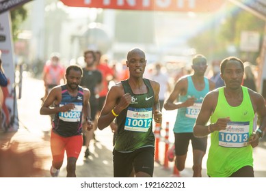
[(52, 177), (58, 176), (65, 151), (68, 158), (66, 176), (76, 177), (76, 162), (83, 145), (82, 126), (92, 129), (90, 90), (79, 86), (82, 74), (79, 65), (68, 66), (66, 85), (54, 87), (40, 108), (41, 115), (55, 115), (51, 132)]

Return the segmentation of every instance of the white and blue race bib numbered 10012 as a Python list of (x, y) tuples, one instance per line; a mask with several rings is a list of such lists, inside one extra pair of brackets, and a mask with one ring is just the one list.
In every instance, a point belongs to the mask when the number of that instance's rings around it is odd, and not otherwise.
[(127, 111), (124, 130), (148, 132), (152, 123), (152, 108), (132, 108)]

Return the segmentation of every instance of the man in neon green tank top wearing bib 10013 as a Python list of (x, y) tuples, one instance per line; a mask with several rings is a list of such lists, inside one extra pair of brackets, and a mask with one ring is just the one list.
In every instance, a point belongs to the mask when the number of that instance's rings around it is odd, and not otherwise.
[[(194, 135), (211, 134), (209, 177), (254, 177), (252, 148), (258, 145), (265, 130), (265, 101), (256, 91), (241, 86), (244, 68), (240, 59), (224, 59), (220, 70), (225, 87), (205, 96)], [(255, 114), (261, 118), (257, 130)], [(210, 118), (211, 124), (206, 126)]]

